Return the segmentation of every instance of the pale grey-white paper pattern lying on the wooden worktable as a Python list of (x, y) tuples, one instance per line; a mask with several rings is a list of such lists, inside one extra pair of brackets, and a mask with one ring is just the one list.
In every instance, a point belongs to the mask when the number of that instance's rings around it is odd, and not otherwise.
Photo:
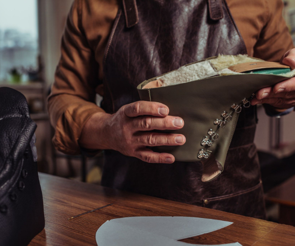
[(177, 240), (216, 231), (230, 224), (232, 222), (197, 217), (125, 217), (105, 222), (97, 230), (95, 239), (98, 246), (202, 246)]

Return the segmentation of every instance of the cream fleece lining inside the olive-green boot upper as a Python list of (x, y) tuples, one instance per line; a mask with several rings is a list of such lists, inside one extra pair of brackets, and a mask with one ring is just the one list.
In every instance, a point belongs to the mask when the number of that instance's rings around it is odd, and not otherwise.
[[(181, 66), (173, 72), (158, 77), (157, 80), (159, 80), (160, 86), (164, 87), (196, 81), (216, 75), (225, 76), (232, 74), (241, 74), (228, 69), (228, 67), (246, 62), (264, 61), (248, 57), (247, 55), (219, 55), (215, 59), (204, 62), (197, 62), (187, 66)], [(286, 77), (292, 77), (295, 75), (295, 70), (282, 75)]]

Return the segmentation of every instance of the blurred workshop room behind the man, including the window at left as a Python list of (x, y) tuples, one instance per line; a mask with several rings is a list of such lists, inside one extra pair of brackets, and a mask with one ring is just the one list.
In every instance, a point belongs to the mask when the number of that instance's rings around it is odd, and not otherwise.
[[(46, 97), (54, 82), (60, 39), (72, 2), (0, 0), (0, 86), (16, 89), (27, 97), (31, 118), (38, 125), (36, 146), (40, 172), (99, 184), (102, 156), (68, 156), (54, 150), (51, 144), (54, 132), (46, 112)], [(284, 5), (283, 16), (295, 42), (295, 0), (286, 0)], [(258, 118), (255, 143), (268, 193), (268, 220), (292, 223), (283, 217), (295, 215), (295, 201), (293, 210), (286, 215), (284, 204), (274, 197), (280, 193), (279, 189), (295, 187), (295, 181), (290, 183), (295, 177), (295, 113), (270, 118), (258, 107)], [(295, 190), (290, 192), (292, 196)]]

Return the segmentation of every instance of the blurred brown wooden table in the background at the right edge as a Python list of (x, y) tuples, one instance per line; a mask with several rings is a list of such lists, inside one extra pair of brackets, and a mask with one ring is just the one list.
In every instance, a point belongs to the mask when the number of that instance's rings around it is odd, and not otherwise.
[(271, 189), (266, 200), (280, 205), (280, 223), (295, 226), (295, 176)]

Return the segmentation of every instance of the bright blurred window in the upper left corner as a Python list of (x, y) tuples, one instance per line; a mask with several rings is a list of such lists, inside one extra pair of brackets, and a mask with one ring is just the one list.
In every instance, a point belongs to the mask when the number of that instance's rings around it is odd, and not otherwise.
[(37, 0), (0, 0), (0, 81), (32, 80), (38, 72)]

